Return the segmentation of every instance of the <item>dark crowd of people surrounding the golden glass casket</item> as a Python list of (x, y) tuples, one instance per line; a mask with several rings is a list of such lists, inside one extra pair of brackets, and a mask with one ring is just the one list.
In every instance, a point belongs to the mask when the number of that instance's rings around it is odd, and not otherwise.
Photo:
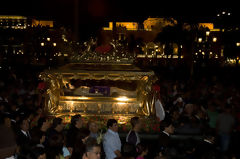
[[(115, 119), (107, 121), (103, 137), (98, 123), (87, 121), (84, 127), (80, 114), (71, 117), (69, 127), (61, 118), (50, 120), (43, 111), (38, 72), (1, 74), (0, 159), (239, 158), (240, 92), (229, 77), (181, 79), (160, 73), (156, 97), (165, 118), (157, 140), (149, 141), (142, 138), (139, 117), (129, 121), (132, 129), (124, 138)], [(201, 139), (177, 143), (172, 136), (178, 134)]]

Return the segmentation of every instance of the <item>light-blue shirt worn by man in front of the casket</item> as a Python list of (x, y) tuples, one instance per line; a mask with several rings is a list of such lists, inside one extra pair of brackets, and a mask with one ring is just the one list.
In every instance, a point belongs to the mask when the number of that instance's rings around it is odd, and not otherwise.
[(106, 154), (106, 159), (114, 159), (117, 155), (114, 151), (121, 151), (121, 140), (117, 132), (114, 132), (110, 129), (106, 132), (103, 138), (103, 149)]

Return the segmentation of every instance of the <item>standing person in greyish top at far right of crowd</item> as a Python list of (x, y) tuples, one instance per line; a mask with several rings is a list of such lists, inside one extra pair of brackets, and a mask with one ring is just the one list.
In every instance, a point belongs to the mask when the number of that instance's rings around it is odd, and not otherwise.
[(228, 150), (233, 126), (234, 118), (231, 114), (231, 107), (225, 106), (224, 112), (219, 114), (217, 118), (216, 125), (216, 130), (220, 137), (222, 152), (226, 152)]

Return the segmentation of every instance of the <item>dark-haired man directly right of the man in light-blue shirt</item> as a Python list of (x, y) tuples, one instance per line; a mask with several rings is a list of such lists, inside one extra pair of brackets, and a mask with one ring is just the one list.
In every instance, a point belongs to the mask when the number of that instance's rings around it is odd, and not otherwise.
[(137, 145), (140, 143), (140, 137), (138, 135), (138, 132), (141, 129), (141, 122), (139, 117), (133, 117), (131, 118), (131, 125), (132, 125), (132, 129), (129, 131), (129, 133), (127, 134), (126, 137), (126, 142), (133, 144), (133, 145)]

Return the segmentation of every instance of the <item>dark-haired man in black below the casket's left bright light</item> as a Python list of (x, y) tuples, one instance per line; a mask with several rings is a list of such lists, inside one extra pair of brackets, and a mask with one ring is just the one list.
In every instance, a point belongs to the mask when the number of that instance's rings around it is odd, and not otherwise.
[(77, 114), (72, 116), (71, 118), (71, 124), (69, 129), (67, 130), (67, 138), (66, 138), (66, 146), (68, 148), (73, 148), (74, 143), (76, 141), (76, 136), (81, 131), (81, 128), (83, 126), (81, 115)]

